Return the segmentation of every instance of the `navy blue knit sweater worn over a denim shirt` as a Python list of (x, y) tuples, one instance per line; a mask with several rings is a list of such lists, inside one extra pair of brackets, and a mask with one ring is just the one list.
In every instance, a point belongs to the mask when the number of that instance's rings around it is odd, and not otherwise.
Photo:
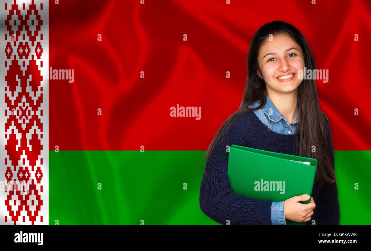
[[(322, 115), (328, 126), (330, 156), (335, 164), (330, 125), (326, 115)], [(245, 197), (234, 193), (230, 187), (226, 146), (232, 144), (294, 155), (295, 134), (284, 135), (271, 131), (253, 111), (241, 115), (217, 143), (206, 162), (207, 177), (204, 174), (201, 181), (200, 208), (214, 221), (223, 225), (227, 220), (230, 225), (272, 225), (271, 200)], [(315, 225), (339, 225), (336, 182), (322, 189), (313, 185), (312, 197), (316, 207), (306, 225), (312, 225), (312, 220), (315, 220)]]

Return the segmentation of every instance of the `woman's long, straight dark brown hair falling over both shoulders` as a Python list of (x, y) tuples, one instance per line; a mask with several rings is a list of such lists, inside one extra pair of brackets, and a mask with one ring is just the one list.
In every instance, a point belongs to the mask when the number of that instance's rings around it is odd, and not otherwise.
[[(261, 73), (257, 57), (260, 46), (267, 38), (269, 38), (270, 34), (274, 36), (287, 34), (290, 36), (301, 46), (305, 67), (312, 70), (316, 68), (315, 60), (308, 43), (302, 33), (293, 25), (282, 21), (273, 21), (261, 26), (251, 39), (249, 52), (247, 52), (247, 78), (240, 107), (224, 121), (223, 125), (221, 125), (213, 141), (211, 141), (207, 148), (201, 163), (205, 155), (207, 156), (206, 163), (209, 161), (211, 153), (216, 147), (219, 139), (225, 136), (230, 126), (233, 125), (234, 121), (240, 115), (261, 109), (265, 106), (267, 101), (266, 84), (257, 74), (257, 71)], [(259, 106), (255, 108), (247, 108), (257, 100), (260, 100)], [(297, 100), (298, 106), (301, 108), (298, 126), (295, 133), (295, 155), (315, 158), (318, 160), (314, 183), (322, 188), (326, 186), (326, 184), (334, 183), (336, 178), (335, 170), (332, 167), (331, 157), (329, 155), (329, 135), (327, 135), (327, 126), (319, 107), (315, 77), (313, 77), (312, 80), (304, 79), (302, 81), (297, 90)], [(316, 147), (315, 152), (311, 151), (312, 145)], [(206, 174), (206, 167), (204, 173)]]

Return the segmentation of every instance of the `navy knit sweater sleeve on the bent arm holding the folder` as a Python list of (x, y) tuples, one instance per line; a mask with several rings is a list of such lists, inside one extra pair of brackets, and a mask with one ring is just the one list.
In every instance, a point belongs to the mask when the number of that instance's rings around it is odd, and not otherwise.
[[(238, 121), (238, 119), (237, 119)], [(247, 123), (247, 122), (246, 122)], [(246, 145), (246, 123), (236, 122), (221, 138), (206, 162), (206, 175), (200, 187), (200, 208), (214, 221), (226, 225), (272, 225), (271, 200), (260, 200), (236, 194), (228, 178), (228, 154), (234, 145)], [(229, 147), (227, 147), (229, 146)]]

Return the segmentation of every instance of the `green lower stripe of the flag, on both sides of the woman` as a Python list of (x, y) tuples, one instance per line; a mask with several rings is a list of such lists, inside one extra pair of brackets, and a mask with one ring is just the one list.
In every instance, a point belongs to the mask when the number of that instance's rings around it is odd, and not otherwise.
[[(219, 225), (199, 206), (204, 153), (49, 151), (49, 224)], [(335, 151), (341, 225), (371, 225), (370, 160), (371, 151)]]

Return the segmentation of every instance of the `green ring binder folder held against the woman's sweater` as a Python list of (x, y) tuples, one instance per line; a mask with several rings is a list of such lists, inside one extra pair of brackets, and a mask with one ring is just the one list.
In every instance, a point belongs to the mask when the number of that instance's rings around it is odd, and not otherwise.
[[(316, 167), (317, 160), (313, 158), (239, 145), (232, 145), (228, 155), (228, 178), (234, 193), (275, 202), (301, 194), (312, 196)], [(305, 223), (286, 219), (286, 225)]]

